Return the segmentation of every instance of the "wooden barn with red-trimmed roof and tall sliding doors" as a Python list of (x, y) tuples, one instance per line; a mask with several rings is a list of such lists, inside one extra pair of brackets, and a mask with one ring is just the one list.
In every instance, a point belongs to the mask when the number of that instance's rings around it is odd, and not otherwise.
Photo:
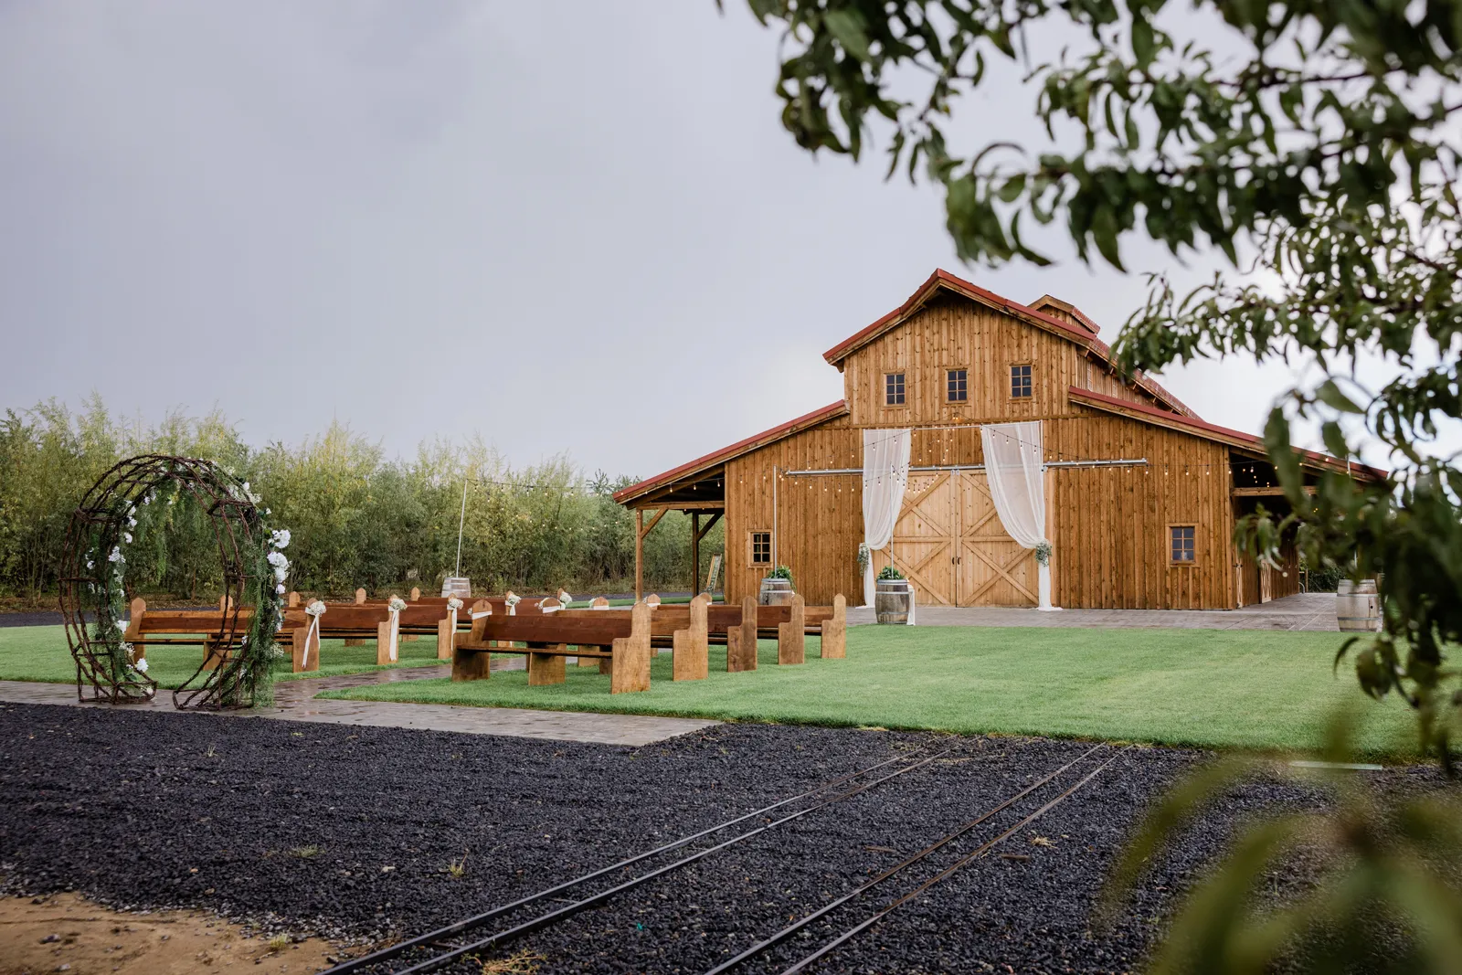
[[(693, 547), (725, 519), (728, 601), (785, 564), (808, 602), (861, 602), (864, 437), (890, 430), (908, 431), (906, 487), (873, 569), (892, 560), (921, 605), (1035, 605), (1035, 551), (1004, 531), (984, 472), (981, 427), (1012, 421), (1039, 424), (1057, 607), (1224, 610), (1298, 592), (1292, 547), (1270, 567), (1232, 544), (1235, 517), (1285, 506), (1262, 440), (1120, 377), (1098, 326), (1063, 301), (1023, 306), (937, 270), (823, 357), (844, 374), (839, 402), (616, 494), (640, 539), (667, 510), (693, 515)], [(1301, 463), (1313, 477), (1345, 462)]]

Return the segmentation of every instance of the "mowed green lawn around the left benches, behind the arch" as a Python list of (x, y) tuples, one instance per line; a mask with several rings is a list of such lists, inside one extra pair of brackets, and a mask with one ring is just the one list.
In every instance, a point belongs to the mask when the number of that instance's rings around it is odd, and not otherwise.
[[(289, 661), (281, 661), (282, 668), (275, 671), (276, 680), (386, 669), (376, 667), (376, 640), (367, 640), (366, 646), (345, 646), (344, 640), (320, 640), (320, 650), (319, 671), (291, 674)], [(154, 646), (148, 649), (148, 677), (158, 681), (159, 687), (178, 687), (193, 677), (202, 662), (200, 646)], [(393, 667), (421, 667), (436, 662), (437, 637), (423, 636), (420, 640), (401, 642), (401, 662)], [(66, 646), (64, 629), (0, 627), (0, 680), (75, 683), (76, 664)]]

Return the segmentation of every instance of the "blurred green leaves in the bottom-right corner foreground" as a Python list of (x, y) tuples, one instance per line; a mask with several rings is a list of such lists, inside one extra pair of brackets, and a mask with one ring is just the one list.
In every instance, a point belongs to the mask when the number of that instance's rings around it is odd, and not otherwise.
[[(1355, 759), (1349, 718), (1327, 735), (1323, 760)], [(1186, 899), (1151, 975), (1257, 975), (1276, 965), (1317, 972), (1456, 972), (1462, 963), (1462, 803), (1455, 794), (1379, 795), (1344, 767), (1307, 778), (1332, 808), (1276, 816), (1243, 833), (1228, 858)], [(1105, 915), (1159, 851), (1225, 789), (1273, 775), (1231, 757), (1193, 775), (1154, 810), (1113, 871)], [(1288, 772), (1294, 775), (1294, 772)], [(1287, 903), (1265, 905), (1257, 887), (1285, 857), (1303, 854), (1319, 881)]]

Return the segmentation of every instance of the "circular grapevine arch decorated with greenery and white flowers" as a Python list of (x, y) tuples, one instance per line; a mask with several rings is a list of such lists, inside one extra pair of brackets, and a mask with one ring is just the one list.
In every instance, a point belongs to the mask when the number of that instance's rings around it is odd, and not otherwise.
[(225, 610), (211, 618), (216, 626), (205, 634), (221, 662), (215, 669), (200, 662), (173, 691), (173, 705), (193, 710), (250, 707), (269, 696), (273, 636), (284, 604), (270, 563), (284, 560), (270, 548), (259, 498), (246, 481), (211, 460), (143, 455), (101, 475), (82, 498), (67, 532), (60, 573), (61, 615), (76, 659), (79, 700), (121, 705), (156, 694), (158, 684), (146, 675), (146, 662), (136, 662), (132, 645), (124, 640), (127, 545), (137, 515), (146, 516), (143, 509), (173, 504), (184, 496), (212, 522)]

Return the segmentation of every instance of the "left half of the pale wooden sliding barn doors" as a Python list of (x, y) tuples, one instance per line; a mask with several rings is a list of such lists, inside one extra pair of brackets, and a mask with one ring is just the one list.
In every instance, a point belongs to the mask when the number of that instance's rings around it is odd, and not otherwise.
[[(889, 545), (893, 564), (914, 583), (920, 605), (955, 604), (959, 536), (956, 478), (949, 471), (911, 472)], [(886, 564), (877, 553), (874, 569)]]

